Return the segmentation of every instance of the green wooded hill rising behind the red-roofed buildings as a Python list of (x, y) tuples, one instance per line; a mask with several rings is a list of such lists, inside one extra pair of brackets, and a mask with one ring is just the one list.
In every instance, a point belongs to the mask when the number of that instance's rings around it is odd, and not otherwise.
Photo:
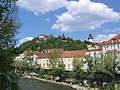
[(18, 47), (20, 53), (25, 50), (33, 50), (33, 51), (44, 51), (47, 49), (63, 49), (66, 51), (69, 50), (86, 50), (87, 45), (90, 42), (82, 42), (80, 40), (73, 40), (72, 38), (65, 37), (64, 34), (62, 36), (54, 37), (53, 35), (49, 36), (39, 36), (34, 38), (31, 41), (24, 42), (22, 45)]

